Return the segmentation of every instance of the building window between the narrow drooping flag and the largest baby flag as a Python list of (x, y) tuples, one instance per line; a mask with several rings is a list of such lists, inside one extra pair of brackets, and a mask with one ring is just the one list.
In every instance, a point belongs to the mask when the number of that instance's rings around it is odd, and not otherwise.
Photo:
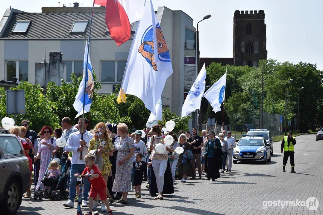
[(102, 61), (101, 82), (122, 82), (127, 61)]

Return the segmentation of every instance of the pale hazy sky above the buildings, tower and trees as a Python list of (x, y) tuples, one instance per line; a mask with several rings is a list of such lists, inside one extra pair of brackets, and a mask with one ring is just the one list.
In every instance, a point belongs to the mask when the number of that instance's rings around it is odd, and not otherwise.
[[(0, 0), (0, 16), (6, 8), (25, 12), (41, 12), (41, 7), (67, 6), (67, 0)], [(78, 0), (91, 6), (93, 0)], [(199, 23), (200, 57), (232, 57), (233, 15), (235, 10), (264, 10), (268, 58), (278, 62), (306, 62), (323, 70), (322, 0), (152, 0), (154, 9), (168, 7), (182, 10), (194, 20), (194, 27), (203, 16), (211, 18)], [(167, 42), (167, 38), (166, 38)]]

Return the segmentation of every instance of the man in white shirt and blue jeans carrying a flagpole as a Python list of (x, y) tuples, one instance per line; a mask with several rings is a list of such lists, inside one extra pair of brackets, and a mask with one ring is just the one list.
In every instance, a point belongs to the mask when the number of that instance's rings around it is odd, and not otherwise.
[[(74, 174), (81, 174), (85, 169), (84, 156), (88, 154), (89, 142), (93, 138), (93, 134), (86, 130), (88, 126), (88, 120), (81, 118), (78, 120), (79, 131), (71, 133), (65, 146), (66, 151), (72, 152), (71, 160), (71, 179), (69, 182), (69, 196), (68, 201), (64, 203), (65, 207), (74, 208), (74, 198), (76, 192), (76, 182), (77, 178)], [(83, 131), (83, 140), (82, 140)], [(82, 153), (81, 153), (82, 152)], [(86, 200), (89, 196), (90, 183), (87, 178), (83, 179), (84, 190), (83, 190), (83, 200), (82, 207), (87, 207)]]

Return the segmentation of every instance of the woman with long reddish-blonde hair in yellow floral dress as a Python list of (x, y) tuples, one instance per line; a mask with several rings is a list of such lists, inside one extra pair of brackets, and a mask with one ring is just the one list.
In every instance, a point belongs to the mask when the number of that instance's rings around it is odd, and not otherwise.
[[(98, 153), (102, 154), (103, 158), (103, 165), (100, 169), (101, 175), (107, 184), (109, 173), (111, 171), (111, 163), (109, 160), (109, 155), (113, 155), (113, 145), (111, 138), (109, 137), (108, 129), (106, 128), (105, 124), (103, 122), (99, 122), (94, 127), (95, 135), (89, 142), (89, 151), (93, 149), (99, 149)], [(109, 197), (109, 200), (112, 200), (112, 196), (109, 193), (109, 190), (107, 188), (107, 195)]]

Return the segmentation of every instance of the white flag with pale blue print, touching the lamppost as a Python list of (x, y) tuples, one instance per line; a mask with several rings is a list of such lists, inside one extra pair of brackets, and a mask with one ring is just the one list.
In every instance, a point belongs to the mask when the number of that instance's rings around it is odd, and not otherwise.
[(187, 116), (196, 109), (200, 110), (203, 93), (205, 90), (205, 63), (198, 74), (195, 82), (193, 83), (190, 92), (187, 94), (185, 102), (182, 106), (182, 117)]

